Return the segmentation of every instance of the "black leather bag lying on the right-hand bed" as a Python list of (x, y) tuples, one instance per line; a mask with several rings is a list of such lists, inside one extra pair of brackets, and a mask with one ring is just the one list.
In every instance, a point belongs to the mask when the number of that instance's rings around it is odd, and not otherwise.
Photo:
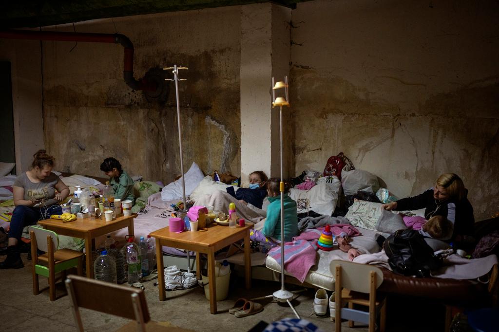
[(384, 248), (393, 272), (404, 276), (428, 277), (442, 266), (442, 258), (414, 229), (399, 229), (385, 240)]

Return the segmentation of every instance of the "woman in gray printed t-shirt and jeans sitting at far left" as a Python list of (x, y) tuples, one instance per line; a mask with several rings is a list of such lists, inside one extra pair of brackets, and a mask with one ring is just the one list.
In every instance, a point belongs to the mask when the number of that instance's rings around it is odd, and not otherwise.
[(58, 203), (69, 195), (69, 188), (52, 173), (54, 158), (47, 155), (45, 150), (39, 150), (33, 157), (32, 168), (17, 176), (13, 185), (15, 209), (8, 231), (7, 258), (0, 263), (0, 269), (19, 269), (24, 266), (17, 245), (22, 229), (45, 219), (47, 215), (61, 214)]

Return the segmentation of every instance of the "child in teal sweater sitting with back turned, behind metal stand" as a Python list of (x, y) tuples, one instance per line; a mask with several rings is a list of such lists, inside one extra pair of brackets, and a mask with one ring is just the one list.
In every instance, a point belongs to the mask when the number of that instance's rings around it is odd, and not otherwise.
[[(267, 193), (270, 204), (267, 207), (267, 217), (261, 231), (250, 231), (250, 239), (255, 242), (275, 245), (281, 241), (280, 231), (280, 179), (273, 177), (267, 181)], [(284, 184), (284, 241), (298, 235), (298, 217), (296, 202), (289, 197), (289, 184)], [(275, 241), (274, 241), (275, 240)]]

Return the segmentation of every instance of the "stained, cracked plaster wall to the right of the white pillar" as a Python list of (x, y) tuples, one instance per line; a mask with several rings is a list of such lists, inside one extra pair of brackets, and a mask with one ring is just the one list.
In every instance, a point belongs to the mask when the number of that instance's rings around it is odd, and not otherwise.
[(292, 11), (294, 170), (344, 152), (399, 197), (460, 174), (499, 211), (497, 1), (334, 0)]

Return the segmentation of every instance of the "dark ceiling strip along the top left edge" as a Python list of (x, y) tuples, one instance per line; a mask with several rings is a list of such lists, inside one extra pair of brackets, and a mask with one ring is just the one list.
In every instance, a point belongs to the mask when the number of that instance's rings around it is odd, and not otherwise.
[(21, 28), (79, 22), (97, 18), (151, 14), (272, 2), (292, 9), (306, 0), (17, 0), (1, 1), (0, 27)]

